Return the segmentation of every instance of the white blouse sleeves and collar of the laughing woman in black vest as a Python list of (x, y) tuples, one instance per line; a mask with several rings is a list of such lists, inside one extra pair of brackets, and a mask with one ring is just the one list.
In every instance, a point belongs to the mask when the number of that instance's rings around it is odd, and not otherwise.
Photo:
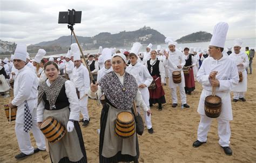
[[(51, 86), (51, 83), (49, 82), (49, 80), (46, 80), (46, 84), (48, 87)], [(77, 98), (76, 89), (75, 89), (73, 82), (71, 82), (69, 80), (67, 80), (65, 82), (65, 93), (66, 93), (66, 97), (68, 97), (68, 100), (70, 103), (69, 104), (69, 108), (70, 108), (69, 119), (79, 121), (79, 112), (80, 112), (79, 100)], [(44, 120), (43, 119), (44, 104), (45, 104), (45, 102), (43, 100), (41, 100), (37, 107), (37, 122), (42, 122)]]

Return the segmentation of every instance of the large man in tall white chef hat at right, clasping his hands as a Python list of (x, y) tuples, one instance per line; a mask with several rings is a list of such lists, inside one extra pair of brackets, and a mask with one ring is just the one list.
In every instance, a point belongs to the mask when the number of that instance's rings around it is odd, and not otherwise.
[(212, 118), (205, 115), (205, 97), (212, 95), (212, 87), (215, 87), (215, 95), (221, 98), (221, 113), (217, 118), (219, 144), (227, 155), (232, 155), (229, 147), (230, 143), (230, 121), (233, 119), (230, 100), (230, 91), (238, 83), (238, 70), (235, 62), (223, 55), (226, 41), (228, 24), (220, 22), (215, 25), (212, 39), (209, 45), (209, 55), (204, 60), (197, 74), (197, 81), (203, 85), (203, 91), (200, 96), (198, 113), (200, 122), (197, 131), (197, 140), (193, 147), (199, 147), (206, 143), (207, 133), (210, 130)]

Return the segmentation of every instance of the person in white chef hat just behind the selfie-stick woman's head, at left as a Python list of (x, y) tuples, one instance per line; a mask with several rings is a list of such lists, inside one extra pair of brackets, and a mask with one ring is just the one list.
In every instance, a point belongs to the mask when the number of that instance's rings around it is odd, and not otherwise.
[(97, 75), (97, 83), (99, 82), (100, 79), (102, 79), (102, 77), (104, 75), (106, 75), (109, 72), (112, 72), (113, 68), (111, 66), (111, 57), (112, 57), (112, 52), (110, 48), (104, 48), (102, 51), (102, 59), (104, 62), (104, 67), (100, 68), (100, 70), (98, 71), (98, 75)]

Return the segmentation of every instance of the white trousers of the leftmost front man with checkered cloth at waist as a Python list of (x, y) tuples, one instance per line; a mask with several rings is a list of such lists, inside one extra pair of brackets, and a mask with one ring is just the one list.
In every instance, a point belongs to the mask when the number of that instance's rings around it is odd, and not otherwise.
[[(32, 131), (33, 136), (35, 137), (36, 145), (39, 150), (45, 150), (46, 146), (44, 134), (41, 132), (41, 130), (39, 130), (37, 121), (32, 120), (32, 122), (33, 125), (30, 131)], [(23, 126), (24, 124), (22, 123), (15, 123), (15, 132), (18, 140), (19, 150), (21, 150), (21, 152), (24, 154), (33, 154), (34, 148), (31, 145), (30, 134), (29, 132), (24, 132)]]

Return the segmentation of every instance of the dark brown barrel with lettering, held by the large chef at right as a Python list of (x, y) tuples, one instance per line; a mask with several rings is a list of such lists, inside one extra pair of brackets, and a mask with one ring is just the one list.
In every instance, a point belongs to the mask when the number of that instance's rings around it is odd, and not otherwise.
[(210, 118), (217, 118), (221, 113), (221, 98), (219, 96), (205, 97), (205, 115)]

